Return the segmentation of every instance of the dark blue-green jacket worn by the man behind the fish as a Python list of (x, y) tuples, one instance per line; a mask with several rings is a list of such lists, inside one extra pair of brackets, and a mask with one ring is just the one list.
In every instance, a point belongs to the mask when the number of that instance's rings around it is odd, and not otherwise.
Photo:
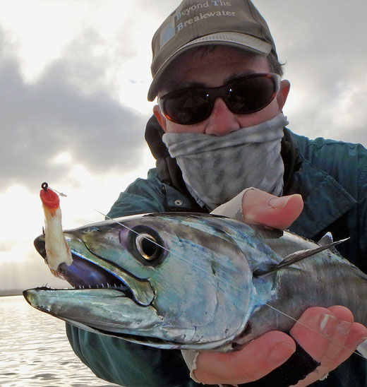
[[(284, 131), (288, 148), (292, 150), (290, 156), (287, 152), (283, 157), (287, 160), (284, 161), (287, 179), (284, 194), (298, 193), (304, 200), (303, 212), (290, 230), (315, 240), (327, 231), (332, 232), (334, 239), (350, 237), (338, 249), (366, 273), (367, 150), (359, 144), (323, 138), (309, 140), (288, 129)], [(152, 141), (150, 148), (155, 154), (157, 149)], [(109, 216), (201, 210), (179, 181), (176, 166), (167, 153), (157, 159), (157, 169), (150, 169), (148, 179), (137, 179), (128, 186)], [(102, 379), (126, 387), (203, 386), (189, 378), (181, 352), (177, 350), (128, 343), (68, 324), (66, 331), (76, 355)], [(313, 386), (367, 386), (367, 361), (352, 355), (325, 381)]]

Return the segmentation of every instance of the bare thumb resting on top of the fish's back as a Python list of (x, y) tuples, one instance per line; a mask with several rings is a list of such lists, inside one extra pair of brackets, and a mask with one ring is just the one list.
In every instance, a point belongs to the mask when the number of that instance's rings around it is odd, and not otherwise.
[(301, 195), (277, 196), (252, 189), (242, 198), (244, 222), (250, 225), (266, 225), (286, 229), (299, 217), (303, 210)]

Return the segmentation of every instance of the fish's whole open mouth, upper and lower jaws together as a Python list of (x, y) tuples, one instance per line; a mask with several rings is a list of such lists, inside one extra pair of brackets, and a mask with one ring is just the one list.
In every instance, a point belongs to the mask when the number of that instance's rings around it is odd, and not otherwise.
[[(181, 346), (154, 333), (163, 318), (153, 304), (155, 292), (148, 280), (93, 254), (76, 235), (64, 235), (73, 261), (69, 266), (61, 263), (57, 273), (73, 288), (25, 290), (23, 296), (31, 306), (92, 333), (155, 347)], [(37, 237), (34, 244), (47, 260), (44, 236)]]

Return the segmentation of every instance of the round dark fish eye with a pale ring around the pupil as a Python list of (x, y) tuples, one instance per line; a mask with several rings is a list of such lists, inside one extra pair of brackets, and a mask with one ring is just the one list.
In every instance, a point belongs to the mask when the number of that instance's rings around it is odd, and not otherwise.
[(143, 265), (156, 266), (167, 255), (160, 234), (148, 226), (133, 227), (128, 232), (127, 242), (130, 253)]

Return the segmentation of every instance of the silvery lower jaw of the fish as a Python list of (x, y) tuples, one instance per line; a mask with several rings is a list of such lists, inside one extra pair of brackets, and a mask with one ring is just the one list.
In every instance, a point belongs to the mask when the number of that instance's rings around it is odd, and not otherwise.
[[(84, 331), (114, 336), (150, 347), (164, 349), (184, 347), (183, 343), (176, 343), (150, 334), (157, 324), (162, 323), (162, 317), (157, 316), (157, 311), (152, 306), (142, 308), (136, 305), (133, 309), (131, 302), (128, 302), (124, 292), (121, 292), (120, 289), (109, 287), (57, 290), (37, 287), (24, 290), (23, 297), (36, 309), (60, 318)], [(99, 314), (101, 304), (111, 301), (112, 303), (107, 304), (109, 310), (104, 309), (105, 313)], [(121, 319), (118, 313), (120, 311), (121, 314), (124, 307), (128, 307), (133, 312), (131, 317), (125, 320)]]

